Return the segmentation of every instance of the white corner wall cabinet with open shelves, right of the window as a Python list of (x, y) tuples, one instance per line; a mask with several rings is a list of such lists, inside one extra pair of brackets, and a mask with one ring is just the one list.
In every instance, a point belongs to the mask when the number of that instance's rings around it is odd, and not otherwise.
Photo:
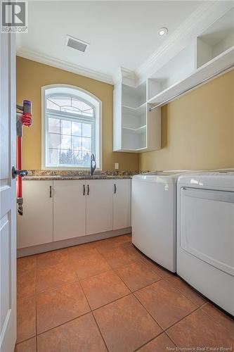
[(149, 111), (146, 84), (131, 87), (122, 81), (114, 89), (114, 151), (141, 153), (160, 149), (160, 109)]

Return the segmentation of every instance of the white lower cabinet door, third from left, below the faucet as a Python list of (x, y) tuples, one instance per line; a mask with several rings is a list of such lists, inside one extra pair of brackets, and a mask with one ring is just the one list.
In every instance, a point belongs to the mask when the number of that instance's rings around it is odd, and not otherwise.
[(89, 180), (86, 183), (86, 234), (112, 230), (112, 180)]

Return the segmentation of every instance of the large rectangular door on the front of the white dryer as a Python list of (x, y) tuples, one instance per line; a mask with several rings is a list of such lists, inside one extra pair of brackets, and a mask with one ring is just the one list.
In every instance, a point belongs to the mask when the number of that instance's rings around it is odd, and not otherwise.
[(234, 192), (181, 188), (180, 249), (234, 276)]

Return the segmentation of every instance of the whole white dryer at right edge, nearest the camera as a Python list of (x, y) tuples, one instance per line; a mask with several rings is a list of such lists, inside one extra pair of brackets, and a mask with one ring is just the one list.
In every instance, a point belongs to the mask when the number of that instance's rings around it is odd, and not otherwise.
[(177, 198), (177, 273), (234, 315), (234, 172), (182, 175)]

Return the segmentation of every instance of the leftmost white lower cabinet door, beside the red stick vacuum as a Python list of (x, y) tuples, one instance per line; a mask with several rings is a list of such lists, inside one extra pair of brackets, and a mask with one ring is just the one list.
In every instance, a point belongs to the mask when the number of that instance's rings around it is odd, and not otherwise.
[(53, 181), (23, 181), (23, 215), (18, 215), (18, 248), (53, 241)]

